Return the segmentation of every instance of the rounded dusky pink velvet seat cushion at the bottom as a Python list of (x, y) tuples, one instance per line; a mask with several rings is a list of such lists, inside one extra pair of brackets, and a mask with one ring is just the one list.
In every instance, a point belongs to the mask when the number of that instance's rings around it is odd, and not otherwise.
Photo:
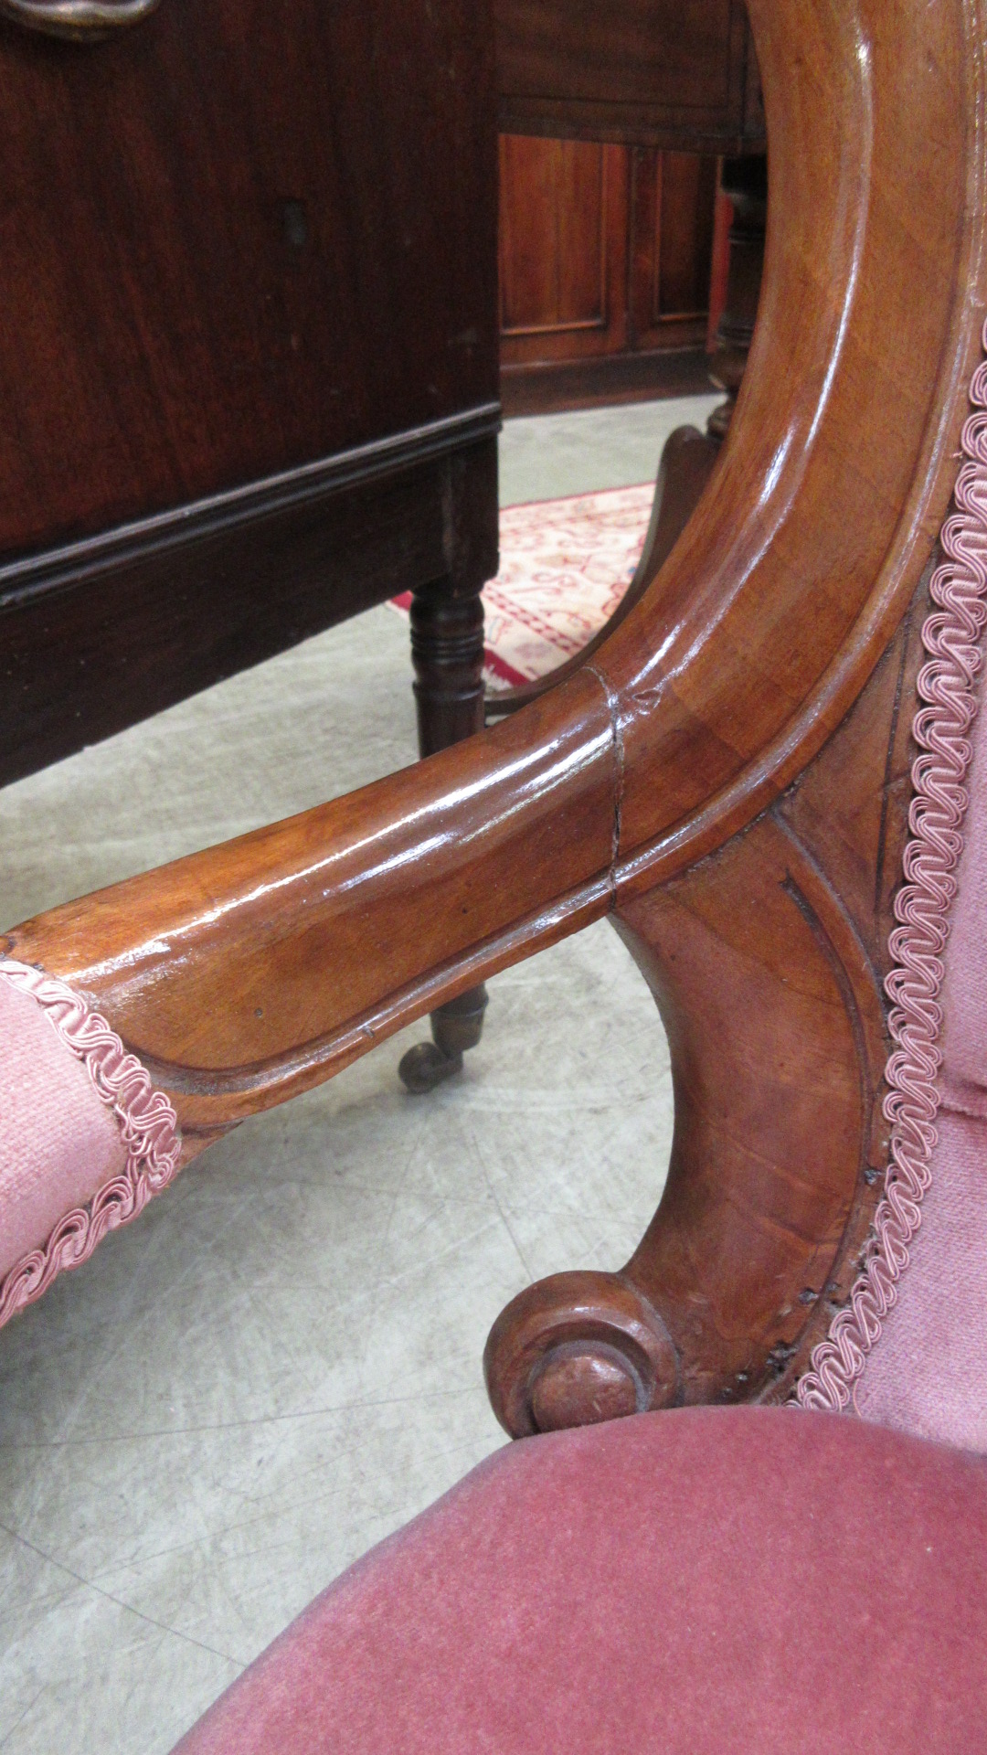
[(961, 1755), (987, 1465), (681, 1409), (497, 1453), (277, 1639), (181, 1755)]

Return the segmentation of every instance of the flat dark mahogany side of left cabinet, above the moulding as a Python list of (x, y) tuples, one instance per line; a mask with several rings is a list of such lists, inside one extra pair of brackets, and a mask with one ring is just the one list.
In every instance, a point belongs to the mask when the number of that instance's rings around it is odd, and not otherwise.
[(4, 555), (495, 400), (488, 28), (177, 0), (88, 53), (0, 23)]

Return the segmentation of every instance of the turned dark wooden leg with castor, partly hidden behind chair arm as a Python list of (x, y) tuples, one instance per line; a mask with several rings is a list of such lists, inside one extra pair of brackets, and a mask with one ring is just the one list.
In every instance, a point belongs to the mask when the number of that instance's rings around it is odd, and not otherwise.
[[(483, 730), (483, 604), (451, 576), (411, 598), (411, 658), (418, 707), (418, 753), (430, 756)], [(483, 1034), (486, 988), (471, 988), (432, 1013), (432, 1041), (402, 1057), (400, 1081), (416, 1095), (462, 1069)]]

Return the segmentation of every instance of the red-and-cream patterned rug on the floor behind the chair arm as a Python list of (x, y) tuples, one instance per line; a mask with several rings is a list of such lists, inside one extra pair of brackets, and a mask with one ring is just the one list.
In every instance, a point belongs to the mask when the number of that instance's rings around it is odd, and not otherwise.
[[(483, 591), (490, 690), (546, 676), (613, 614), (641, 558), (653, 497), (646, 481), (504, 507), (501, 572)], [(411, 591), (392, 607), (407, 614)]]

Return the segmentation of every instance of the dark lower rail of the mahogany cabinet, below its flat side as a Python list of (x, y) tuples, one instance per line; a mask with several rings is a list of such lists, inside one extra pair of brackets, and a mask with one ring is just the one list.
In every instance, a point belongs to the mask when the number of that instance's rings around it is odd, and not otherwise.
[(409, 584), (479, 593), (497, 570), (499, 423), (492, 404), (0, 567), (0, 784)]

